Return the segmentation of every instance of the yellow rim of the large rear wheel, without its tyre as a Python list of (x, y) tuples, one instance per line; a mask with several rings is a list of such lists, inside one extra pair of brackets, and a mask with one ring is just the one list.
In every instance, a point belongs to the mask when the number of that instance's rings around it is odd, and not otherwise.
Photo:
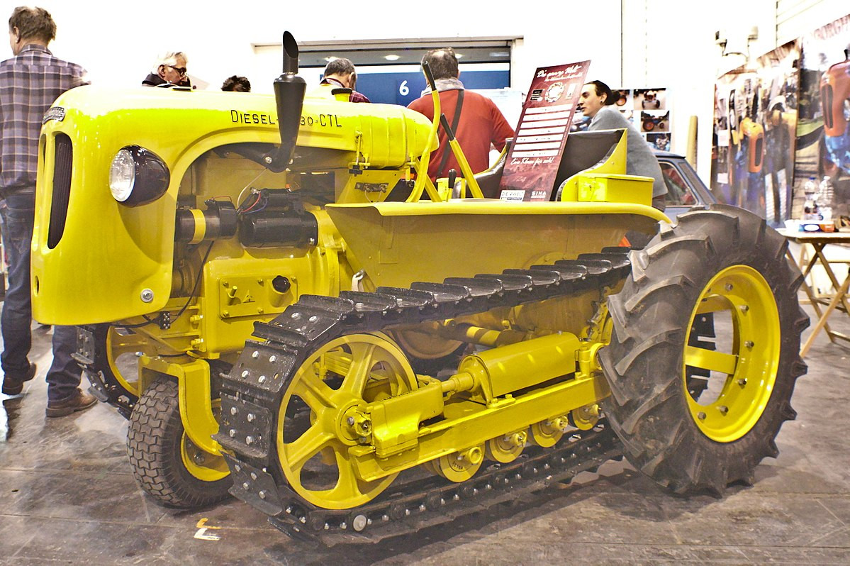
[[(688, 345), (694, 320), (707, 313), (715, 314), (716, 329), (718, 318), (728, 314), (731, 339), (725, 348), (719, 341), (717, 350)], [(774, 389), (780, 342), (779, 310), (760, 273), (733, 265), (708, 282), (690, 317), (682, 368), (690, 415), (708, 438), (734, 442), (756, 425)], [(687, 367), (711, 371), (712, 399), (691, 396)]]

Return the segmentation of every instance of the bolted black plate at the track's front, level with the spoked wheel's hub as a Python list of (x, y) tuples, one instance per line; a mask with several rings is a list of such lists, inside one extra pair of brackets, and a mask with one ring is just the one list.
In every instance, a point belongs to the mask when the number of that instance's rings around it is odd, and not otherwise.
[(221, 424), (213, 438), (225, 448), (252, 458), (266, 458), (271, 447), (271, 411), (263, 406), (221, 395)]

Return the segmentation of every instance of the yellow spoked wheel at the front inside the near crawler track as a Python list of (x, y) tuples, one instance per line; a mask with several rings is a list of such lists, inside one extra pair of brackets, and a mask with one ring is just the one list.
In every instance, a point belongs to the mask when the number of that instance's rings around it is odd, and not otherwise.
[(351, 422), (366, 404), (415, 388), (405, 354), (381, 334), (340, 337), (311, 354), (278, 417), (280, 469), (292, 490), (318, 507), (348, 509), (387, 489), (398, 474), (371, 482), (357, 476), (349, 450), (364, 443)]

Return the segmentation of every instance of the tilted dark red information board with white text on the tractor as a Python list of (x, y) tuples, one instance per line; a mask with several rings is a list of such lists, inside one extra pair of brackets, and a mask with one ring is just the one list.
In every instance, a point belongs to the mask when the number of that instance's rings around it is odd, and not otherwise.
[(590, 61), (535, 72), (501, 176), (502, 201), (548, 201)]

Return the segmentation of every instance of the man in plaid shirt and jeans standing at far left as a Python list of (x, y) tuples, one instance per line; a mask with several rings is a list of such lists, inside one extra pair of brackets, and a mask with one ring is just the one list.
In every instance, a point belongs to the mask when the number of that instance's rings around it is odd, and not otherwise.
[[(31, 348), (30, 244), (36, 200), (38, 136), (42, 117), (59, 94), (88, 84), (85, 71), (48, 49), (56, 24), (43, 8), (14, 8), (8, 19), (12, 59), (0, 63), (0, 194), (3, 241), (8, 246), (8, 290), (0, 315), (3, 331), (3, 393), (17, 395), (36, 375)], [(47, 416), (65, 416), (97, 402), (82, 393), (80, 367), (71, 359), (77, 329), (54, 326), (53, 364), (47, 373)]]

